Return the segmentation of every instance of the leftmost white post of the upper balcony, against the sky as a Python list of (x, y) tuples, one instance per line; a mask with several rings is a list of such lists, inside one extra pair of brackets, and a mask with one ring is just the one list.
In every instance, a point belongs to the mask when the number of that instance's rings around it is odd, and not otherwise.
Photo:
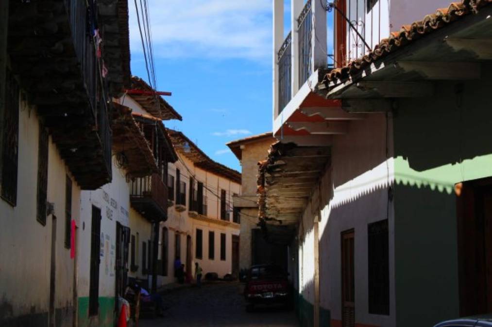
[(273, 53), (273, 120), (278, 116), (278, 65), (277, 52), (283, 43), (283, 0), (274, 0), (274, 53)]

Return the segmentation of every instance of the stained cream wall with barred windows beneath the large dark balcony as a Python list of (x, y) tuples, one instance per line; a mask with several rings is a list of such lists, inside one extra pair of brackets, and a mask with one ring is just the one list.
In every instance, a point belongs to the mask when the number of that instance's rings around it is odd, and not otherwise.
[[(17, 205), (0, 199), (1, 326), (48, 326), (52, 260), (55, 310), (51, 319), (59, 326), (72, 326), (74, 269), (70, 249), (65, 247), (65, 176), (70, 173), (50, 137), (47, 201), (53, 203), (54, 215), (42, 225), (36, 220), (38, 136), (36, 112), (21, 100)], [(79, 194), (73, 182), (72, 211), (79, 208)]]

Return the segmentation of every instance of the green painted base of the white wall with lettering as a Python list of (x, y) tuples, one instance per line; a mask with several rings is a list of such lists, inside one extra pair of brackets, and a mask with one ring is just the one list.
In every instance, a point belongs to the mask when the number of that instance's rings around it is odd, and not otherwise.
[(79, 327), (113, 327), (115, 324), (115, 298), (99, 298), (99, 314), (89, 316), (89, 297), (78, 299)]

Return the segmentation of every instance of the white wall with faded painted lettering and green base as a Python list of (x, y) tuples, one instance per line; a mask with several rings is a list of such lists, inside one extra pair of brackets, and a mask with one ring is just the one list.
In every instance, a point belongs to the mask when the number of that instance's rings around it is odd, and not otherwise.
[[(111, 183), (95, 191), (82, 191), (80, 217), (77, 217), (77, 297), (78, 324), (83, 326), (113, 326), (116, 290), (116, 223), (129, 226), (129, 187), (125, 172), (112, 162)], [(89, 285), (91, 277), (92, 208), (101, 211), (99, 238), (99, 312), (89, 315)]]

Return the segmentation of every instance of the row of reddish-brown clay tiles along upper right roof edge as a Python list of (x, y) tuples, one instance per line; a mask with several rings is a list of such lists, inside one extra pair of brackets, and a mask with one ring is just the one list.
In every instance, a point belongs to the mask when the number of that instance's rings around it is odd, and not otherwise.
[(344, 67), (329, 71), (322, 82), (343, 82), (386, 55), (394, 53), (407, 44), (431, 34), (434, 30), (448, 26), (461, 17), (477, 13), (481, 8), (490, 4), (492, 4), (492, 0), (451, 2), (447, 8), (437, 9), (434, 14), (426, 15), (423, 20), (404, 25), (400, 28), (400, 31), (392, 32), (388, 38), (382, 39), (368, 54), (349, 62)]

